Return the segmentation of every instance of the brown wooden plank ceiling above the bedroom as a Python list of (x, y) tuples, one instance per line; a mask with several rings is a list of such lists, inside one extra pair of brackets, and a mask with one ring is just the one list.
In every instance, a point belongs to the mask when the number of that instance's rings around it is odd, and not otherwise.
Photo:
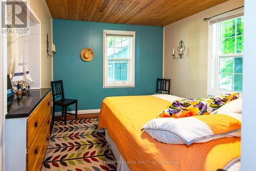
[[(46, 0), (53, 18), (166, 26), (227, 0)], [(205, 16), (207, 17), (207, 16)]]

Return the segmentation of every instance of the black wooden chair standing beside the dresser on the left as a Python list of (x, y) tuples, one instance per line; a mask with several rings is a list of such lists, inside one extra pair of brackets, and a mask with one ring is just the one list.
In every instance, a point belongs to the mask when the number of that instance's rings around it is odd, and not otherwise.
[[(77, 99), (66, 99), (64, 96), (64, 91), (63, 91), (63, 83), (62, 80), (59, 81), (51, 81), (51, 85), (52, 85), (52, 99), (53, 99), (53, 116), (52, 116), (52, 120), (54, 121), (55, 119), (55, 105), (61, 106), (62, 111), (61, 111), (61, 116), (64, 115), (64, 120), (63, 119), (59, 119), (59, 120), (63, 120), (64, 124), (67, 124), (67, 114), (69, 115), (75, 115), (76, 119), (77, 119)], [(60, 98), (57, 99), (56, 98)], [(67, 113), (67, 107), (71, 104), (76, 105), (76, 112), (75, 114), (72, 113)], [(57, 118), (58, 119), (58, 118)]]

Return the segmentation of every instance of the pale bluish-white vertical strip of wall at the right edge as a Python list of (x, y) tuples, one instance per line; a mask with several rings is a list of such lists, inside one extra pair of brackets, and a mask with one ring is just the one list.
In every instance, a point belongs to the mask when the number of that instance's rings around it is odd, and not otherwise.
[(242, 171), (256, 170), (256, 58), (255, 16), (256, 1), (245, 1), (243, 115), (242, 115)]

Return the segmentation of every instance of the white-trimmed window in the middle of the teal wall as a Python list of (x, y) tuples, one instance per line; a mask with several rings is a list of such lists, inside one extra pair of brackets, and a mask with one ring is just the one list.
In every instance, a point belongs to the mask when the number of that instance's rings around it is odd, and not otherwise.
[(104, 30), (103, 87), (135, 86), (135, 32)]

